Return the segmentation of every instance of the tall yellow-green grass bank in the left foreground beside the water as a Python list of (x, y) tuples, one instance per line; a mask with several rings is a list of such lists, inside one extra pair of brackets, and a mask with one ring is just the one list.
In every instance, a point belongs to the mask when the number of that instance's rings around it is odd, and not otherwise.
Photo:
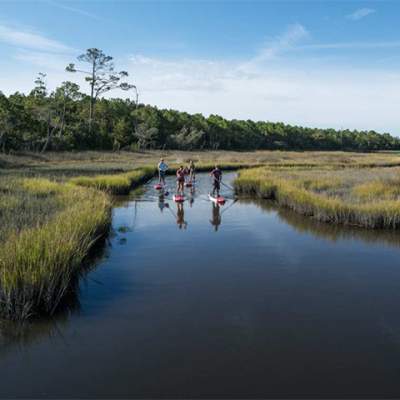
[(0, 315), (51, 315), (106, 233), (110, 201), (46, 179), (5, 179), (0, 192)]

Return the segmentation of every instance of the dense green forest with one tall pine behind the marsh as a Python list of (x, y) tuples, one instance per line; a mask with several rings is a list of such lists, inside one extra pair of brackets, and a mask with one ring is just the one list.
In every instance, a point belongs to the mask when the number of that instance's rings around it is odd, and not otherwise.
[[(304, 128), (280, 122), (227, 120), (140, 104), (137, 90), (115, 72), (112, 58), (89, 49), (78, 57), (90, 71), (74, 64), (69, 72), (84, 72), (90, 95), (73, 82), (54, 91), (39, 74), (29, 94), (0, 92), (0, 151), (120, 150), (120, 149), (284, 149), (394, 150), (400, 139), (375, 131)], [(134, 99), (106, 99), (112, 89), (134, 93)], [(267, 110), (266, 110), (267, 112)]]

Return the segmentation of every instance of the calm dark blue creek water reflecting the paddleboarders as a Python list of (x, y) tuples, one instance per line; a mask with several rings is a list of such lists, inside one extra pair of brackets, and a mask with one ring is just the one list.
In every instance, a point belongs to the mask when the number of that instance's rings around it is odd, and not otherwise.
[(182, 215), (152, 185), (118, 200), (73, 311), (3, 324), (1, 397), (400, 396), (398, 234), (217, 209), (205, 175)]

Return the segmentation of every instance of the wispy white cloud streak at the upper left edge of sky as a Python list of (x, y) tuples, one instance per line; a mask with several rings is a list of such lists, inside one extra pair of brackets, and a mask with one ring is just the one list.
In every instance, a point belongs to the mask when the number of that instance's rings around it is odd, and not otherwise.
[(49, 39), (39, 33), (0, 25), (0, 42), (20, 48), (42, 50), (55, 53), (70, 52), (73, 49), (65, 44)]

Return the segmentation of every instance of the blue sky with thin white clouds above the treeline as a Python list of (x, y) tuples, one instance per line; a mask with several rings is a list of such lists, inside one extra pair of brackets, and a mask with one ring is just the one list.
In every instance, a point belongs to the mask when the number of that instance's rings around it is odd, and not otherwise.
[(0, 0), (0, 90), (44, 72), (87, 91), (65, 66), (97, 47), (146, 104), (400, 136), (399, 15), (398, 0)]

